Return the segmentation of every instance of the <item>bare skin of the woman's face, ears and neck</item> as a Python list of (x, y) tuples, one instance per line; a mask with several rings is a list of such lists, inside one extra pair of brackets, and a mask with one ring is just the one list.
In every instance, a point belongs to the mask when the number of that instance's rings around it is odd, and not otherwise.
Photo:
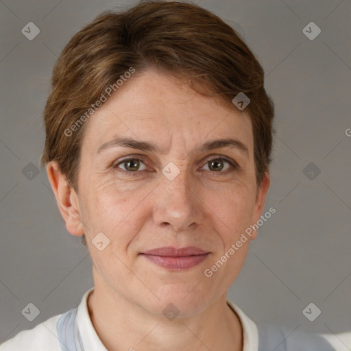
[[(213, 276), (204, 270), (260, 219), (265, 204), (269, 173), (257, 189), (245, 110), (228, 110), (149, 70), (125, 82), (86, 123), (78, 193), (55, 162), (47, 173), (67, 230), (86, 234), (95, 282), (88, 308), (101, 341), (112, 351), (242, 350), (241, 324), (226, 299), (256, 232)], [(114, 146), (97, 154), (115, 136), (152, 142), (160, 151)], [(219, 138), (238, 139), (248, 153), (197, 150)], [(125, 156), (137, 160), (128, 168)], [(212, 158), (219, 164), (211, 165)], [(169, 162), (180, 170), (173, 180), (162, 174)], [(92, 244), (99, 232), (110, 239), (102, 251)], [(196, 246), (210, 254), (180, 271), (141, 255), (162, 246)], [(162, 314), (170, 303), (179, 310), (173, 320)]]

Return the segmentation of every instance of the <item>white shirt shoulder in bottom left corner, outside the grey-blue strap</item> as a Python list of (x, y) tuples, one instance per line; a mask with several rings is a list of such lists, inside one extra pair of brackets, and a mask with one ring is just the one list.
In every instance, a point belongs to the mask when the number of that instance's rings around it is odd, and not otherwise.
[(0, 345), (0, 351), (60, 351), (56, 324), (62, 316), (56, 315), (36, 327), (19, 332)]

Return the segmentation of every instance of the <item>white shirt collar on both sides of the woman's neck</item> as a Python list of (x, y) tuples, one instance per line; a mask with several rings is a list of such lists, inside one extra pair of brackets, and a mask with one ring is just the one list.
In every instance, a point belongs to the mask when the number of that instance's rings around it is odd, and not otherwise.
[[(88, 312), (88, 295), (92, 293), (94, 288), (89, 289), (84, 293), (82, 301), (77, 308), (77, 316), (75, 318), (75, 330), (79, 330), (79, 333), (75, 333), (75, 344), (77, 347), (82, 343), (84, 348), (77, 351), (108, 351), (104, 344), (99, 339), (97, 332), (91, 322), (90, 315)], [(256, 324), (241, 311), (236, 304), (227, 300), (229, 306), (237, 313), (241, 326), (243, 328), (243, 351), (258, 351), (258, 330)], [(81, 340), (79, 340), (79, 335)]]

